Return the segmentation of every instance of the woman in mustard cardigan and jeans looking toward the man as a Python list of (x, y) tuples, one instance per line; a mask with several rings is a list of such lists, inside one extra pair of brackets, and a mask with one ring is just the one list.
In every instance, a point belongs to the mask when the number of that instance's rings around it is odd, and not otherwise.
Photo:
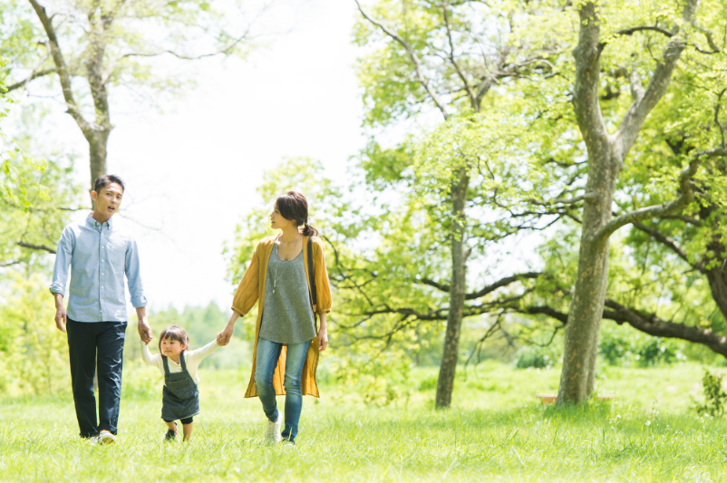
[[(325, 269), (323, 242), (308, 225), (308, 202), (303, 195), (288, 191), (276, 199), (270, 227), (282, 233), (263, 238), (232, 301), (233, 314), (219, 333), (220, 345), (227, 345), (237, 318), (247, 314), (260, 299), (255, 326), (255, 350), (246, 398), (259, 396), (267, 416), (265, 439), (286, 440), (294, 446), (303, 395), (318, 397), (315, 370), (318, 353), (328, 344), (325, 315), (331, 311), (331, 288)], [(303, 227), (303, 229), (300, 229)], [(313, 267), (308, 266), (308, 239), (312, 238)], [(311, 291), (313, 269), (315, 292)], [(315, 294), (316, 304), (311, 294)], [(315, 314), (320, 317), (316, 330)], [(286, 427), (276, 395), (286, 395)]]

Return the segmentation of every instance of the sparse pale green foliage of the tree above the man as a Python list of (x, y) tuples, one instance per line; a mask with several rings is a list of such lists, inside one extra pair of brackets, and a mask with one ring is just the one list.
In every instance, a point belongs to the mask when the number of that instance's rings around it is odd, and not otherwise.
[[(87, 119), (93, 118), (86, 61), (92, 53), (102, 53), (104, 87), (107, 90), (127, 90), (135, 97), (156, 103), (160, 94), (179, 93), (189, 89), (192, 82), (179, 75), (160, 74), (150, 58), (164, 53), (175, 53), (180, 58), (194, 58), (203, 53), (224, 51), (226, 54), (245, 55), (252, 43), (247, 38), (235, 42), (244, 34), (236, 10), (237, 1), (229, 2), (222, 10), (220, 2), (206, 0), (179, 0), (175, 2), (94, 2), (92, 0), (55, 2), (44, 5), (63, 50), (65, 64), (74, 82), (76, 101)], [(236, 8), (237, 7), (237, 8)], [(64, 22), (58, 21), (63, 15)], [(102, 21), (103, 18), (103, 21)], [(0, 6), (0, 55), (11, 59), (0, 73), (0, 80), (20, 82), (31, 70), (44, 72), (54, 69), (48, 55), (44, 28), (32, 5), (11, 1)], [(44, 77), (46, 87), (57, 79)], [(6, 82), (12, 83), (12, 82)], [(98, 106), (95, 106), (98, 107)]]

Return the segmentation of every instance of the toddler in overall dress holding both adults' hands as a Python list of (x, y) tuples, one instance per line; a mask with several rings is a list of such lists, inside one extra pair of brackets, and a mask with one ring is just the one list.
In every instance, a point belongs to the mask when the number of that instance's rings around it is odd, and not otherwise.
[(182, 423), (184, 440), (192, 436), (193, 417), (199, 414), (199, 391), (197, 384), (199, 362), (217, 351), (218, 341), (214, 340), (195, 351), (188, 351), (189, 337), (181, 327), (170, 325), (159, 338), (159, 352), (151, 355), (148, 343), (141, 342), (141, 358), (144, 362), (157, 366), (164, 374), (164, 391), (161, 400), (161, 419), (167, 423), (165, 440), (177, 437), (177, 423)]

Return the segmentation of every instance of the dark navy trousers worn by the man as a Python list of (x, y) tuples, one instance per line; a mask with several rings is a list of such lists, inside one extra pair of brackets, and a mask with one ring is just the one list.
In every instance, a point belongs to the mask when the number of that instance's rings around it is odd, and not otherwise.
[[(68, 319), (68, 353), (76, 419), (83, 438), (97, 436), (101, 430), (116, 434), (121, 402), (121, 370), (126, 322), (75, 322)], [(98, 353), (98, 357), (97, 357)], [(93, 376), (98, 365), (99, 413)]]

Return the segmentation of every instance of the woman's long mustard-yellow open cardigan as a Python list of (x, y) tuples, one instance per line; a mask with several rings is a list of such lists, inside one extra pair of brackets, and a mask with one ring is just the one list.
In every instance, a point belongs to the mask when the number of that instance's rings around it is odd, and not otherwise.
[[(257, 360), (257, 336), (260, 333), (260, 322), (263, 319), (263, 309), (265, 305), (265, 283), (267, 279), (267, 261), (275, 246), (276, 235), (263, 238), (255, 248), (255, 254), (252, 257), (250, 266), (247, 267), (245, 276), (242, 277), (240, 285), (237, 286), (237, 292), (232, 300), (232, 310), (240, 314), (247, 314), (250, 309), (255, 306), (257, 299), (260, 299), (260, 305), (257, 308), (257, 322), (255, 323), (255, 350), (252, 356), (252, 374), (250, 382), (247, 384), (246, 398), (254, 398), (257, 396), (255, 388), (255, 362)], [(310, 296), (310, 276), (308, 275), (308, 237), (303, 239), (303, 265), (305, 266), (305, 280), (308, 285), (308, 295)], [(315, 274), (315, 291), (316, 302), (313, 310), (317, 314), (328, 314), (331, 312), (331, 285), (328, 283), (328, 271), (325, 268), (325, 256), (323, 241), (320, 237), (313, 239), (313, 266)], [(311, 304), (313, 304), (311, 298)], [(308, 348), (308, 355), (305, 358), (305, 366), (301, 374), (300, 389), (304, 395), (319, 397), (318, 384), (315, 382), (315, 371), (318, 368), (318, 341), (313, 339)], [(286, 378), (286, 347), (283, 347), (280, 353), (280, 359), (277, 361), (275, 375), (273, 376), (273, 386), (276, 388), (276, 394), (282, 395), (286, 393), (283, 382)]]

